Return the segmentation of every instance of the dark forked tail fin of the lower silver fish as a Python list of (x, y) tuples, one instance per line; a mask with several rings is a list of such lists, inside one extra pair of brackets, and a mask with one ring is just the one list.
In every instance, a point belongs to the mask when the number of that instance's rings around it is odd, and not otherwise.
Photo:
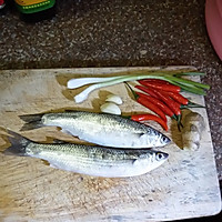
[(28, 155), (26, 153), (26, 148), (30, 143), (30, 140), (11, 130), (7, 130), (7, 133), (9, 134), (7, 139), (11, 143), (11, 147), (6, 149), (3, 153), (7, 155)]

